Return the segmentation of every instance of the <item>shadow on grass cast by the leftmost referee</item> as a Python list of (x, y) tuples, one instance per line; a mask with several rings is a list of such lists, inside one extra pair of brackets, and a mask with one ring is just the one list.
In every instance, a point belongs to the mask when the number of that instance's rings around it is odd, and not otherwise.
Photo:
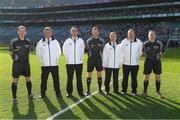
[(13, 119), (37, 119), (37, 115), (34, 110), (34, 102), (32, 100), (29, 100), (28, 107), (29, 107), (28, 113), (21, 114), (19, 112), (18, 104), (13, 104), (13, 107), (12, 107)]

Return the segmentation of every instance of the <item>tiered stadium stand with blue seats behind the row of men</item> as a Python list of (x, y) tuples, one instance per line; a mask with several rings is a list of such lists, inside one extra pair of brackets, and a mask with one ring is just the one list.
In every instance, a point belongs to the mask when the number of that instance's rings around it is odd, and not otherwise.
[[(132, 0), (128, 0), (132, 1)], [(169, 47), (178, 47), (180, 36), (180, 2), (144, 0), (135, 2), (113, 0), (2, 0), (0, 5), (0, 42), (7, 44), (16, 36), (16, 27), (26, 25), (28, 37), (36, 43), (44, 26), (52, 26), (54, 36), (63, 42), (71, 25), (79, 27), (79, 36), (86, 40), (91, 27), (98, 25), (101, 36), (108, 41), (110, 31), (121, 41), (129, 28), (137, 37), (147, 40), (148, 30), (156, 30), (158, 39)], [(126, 4), (125, 4), (126, 3)], [(64, 7), (66, 6), (66, 7)]]

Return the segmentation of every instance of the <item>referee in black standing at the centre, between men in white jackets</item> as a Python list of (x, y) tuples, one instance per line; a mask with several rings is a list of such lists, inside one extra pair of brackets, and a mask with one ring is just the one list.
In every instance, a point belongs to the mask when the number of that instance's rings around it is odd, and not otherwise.
[(94, 68), (97, 71), (97, 83), (99, 87), (99, 93), (103, 93), (102, 86), (102, 75), (101, 71), (103, 70), (102, 66), (102, 52), (104, 47), (104, 39), (100, 36), (99, 27), (94, 26), (92, 28), (92, 37), (90, 37), (86, 41), (87, 51), (88, 51), (88, 61), (87, 61), (87, 92), (86, 95), (90, 94), (90, 85), (91, 85), (91, 77)]

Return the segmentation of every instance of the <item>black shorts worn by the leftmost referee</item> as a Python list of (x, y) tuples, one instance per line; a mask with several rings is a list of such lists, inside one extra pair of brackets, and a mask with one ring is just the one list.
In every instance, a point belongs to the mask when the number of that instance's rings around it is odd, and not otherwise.
[(12, 77), (19, 78), (19, 76), (30, 77), (30, 64), (29, 62), (13, 62)]

